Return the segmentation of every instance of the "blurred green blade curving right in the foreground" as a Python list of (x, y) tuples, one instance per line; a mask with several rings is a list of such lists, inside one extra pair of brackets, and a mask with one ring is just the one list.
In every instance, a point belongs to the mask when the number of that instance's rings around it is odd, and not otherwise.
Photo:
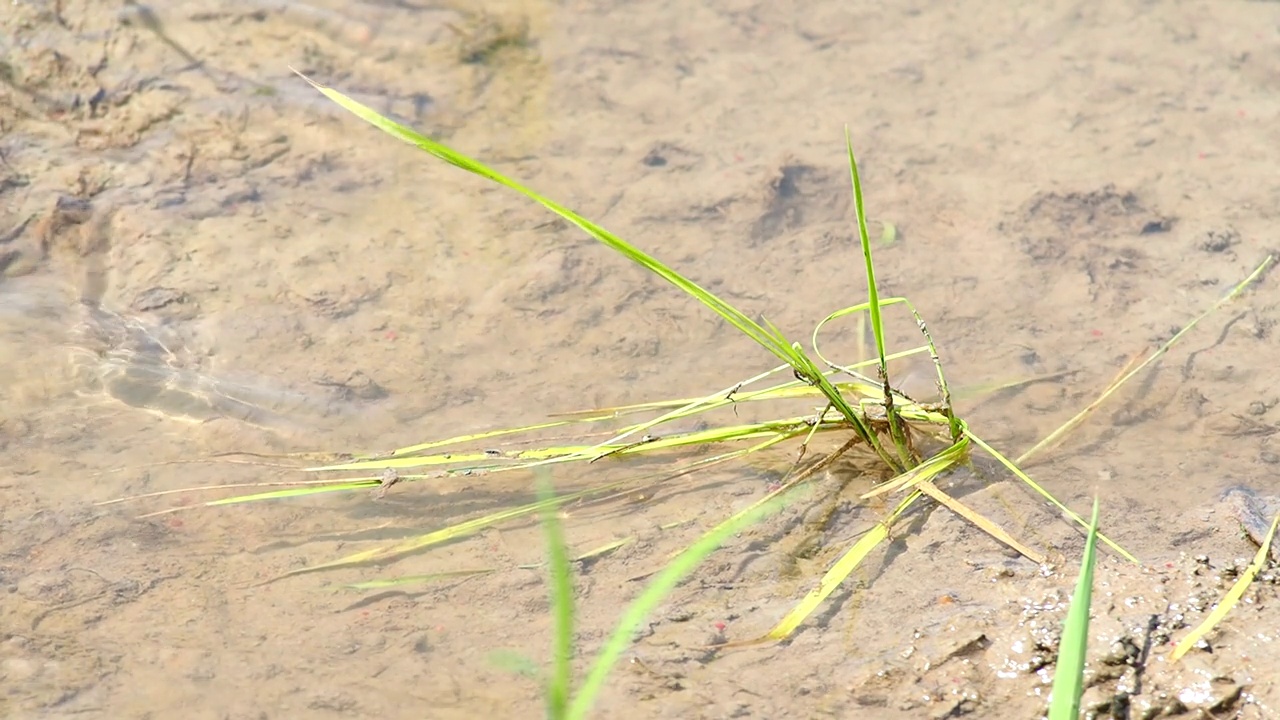
[(591, 671), (588, 674), (586, 679), (582, 682), (577, 696), (573, 698), (570, 706), (568, 715), (570, 720), (581, 720), (586, 717), (586, 714), (591, 710), (595, 703), (596, 696), (604, 687), (604, 680), (608, 678), (613, 666), (617, 664), (618, 659), (631, 644), (631, 638), (636, 629), (645, 618), (649, 616), (654, 609), (668, 596), (681, 580), (685, 579), (695, 568), (698, 568), (707, 557), (719, 550), (728, 538), (741, 532), (748, 525), (763, 520), (767, 515), (776, 512), (786, 502), (786, 498), (778, 498), (774, 502), (762, 505), (755, 507), (751, 512), (745, 512), (735, 516), (727, 523), (717, 525), (710, 532), (699, 538), (695, 543), (685, 548), (684, 552), (676, 556), (658, 575), (649, 583), (649, 585), (640, 593), (635, 601), (627, 607), (626, 612), (618, 620), (614, 626), (613, 633), (609, 639), (604, 643), (600, 650), (599, 656), (596, 656), (595, 662), (591, 665)]

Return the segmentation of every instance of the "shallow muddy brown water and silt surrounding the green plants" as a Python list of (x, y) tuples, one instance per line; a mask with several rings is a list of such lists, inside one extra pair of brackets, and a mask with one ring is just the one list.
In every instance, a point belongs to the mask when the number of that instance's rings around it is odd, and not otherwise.
[[(952, 382), (1069, 373), (963, 396), (972, 427), (1014, 454), (1276, 247), (1270, 3), (19, 0), (5, 13), (5, 717), (535, 715), (536, 683), (500, 659), (545, 656), (540, 577), (516, 569), (540, 561), (536, 528), (257, 584), (499, 507), (527, 478), (146, 519), (192, 497), (95, 503), (294, 477), (186, 462), (214, 454), (384, 450), (704, 393), (769, 365), (527, 202), (343, 115), (291, 67), (796, 337), (863, 300), (847, 124), (873, 219), (901, 231), (877, 256), (884, 290), (929, 320)], [(1274, 584), (1254, 585), (1213, 653), (1164, 660), (1254, 550), (1224, 492), (1280, 492), (1275, 297), (1265, 278), (1029, 468), (1074, 507), (1100, 495), (1107, 530), (1144, 561), (1107, 557), (1100, 578), (1087, 701), (1116, 716), (1126, 703), (1134, 717), (1280, 712)], [(913, 323), (895, 322), (914, 343)], [(571, 518), (581, 550), (641, 538), (581, 578), (584, 650), (632, 578), (785, 465)], [(817, 489), (847, 484), (840, 471)], [(1002, 475), (952, 489), (1066, 571), (920, 514), (795, 642), (709, 655), (722, 632), (768, 629), (876, 521), (819, 492), (673, 596), (603, 715), (1038, 716), (1080, 538)], [(467, 569), (499, 571), (340, 587)]]

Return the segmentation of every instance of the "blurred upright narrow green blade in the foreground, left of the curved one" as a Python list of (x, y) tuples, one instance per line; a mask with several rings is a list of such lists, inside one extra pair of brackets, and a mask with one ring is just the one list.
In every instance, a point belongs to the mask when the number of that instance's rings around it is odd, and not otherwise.
[(573, 575), (564, 546), (564, 528), (561, 525), (559, 505), (548, 473), (539, 473), (539, 500), (543, 502), (541, 523), (547, 534), (548, 580), (552, 615), (556, 620), (552, 634), (552, 675), (547, 682), (547, 716), (562, 720), (568, 712), (572, 691), (573, 660)]

